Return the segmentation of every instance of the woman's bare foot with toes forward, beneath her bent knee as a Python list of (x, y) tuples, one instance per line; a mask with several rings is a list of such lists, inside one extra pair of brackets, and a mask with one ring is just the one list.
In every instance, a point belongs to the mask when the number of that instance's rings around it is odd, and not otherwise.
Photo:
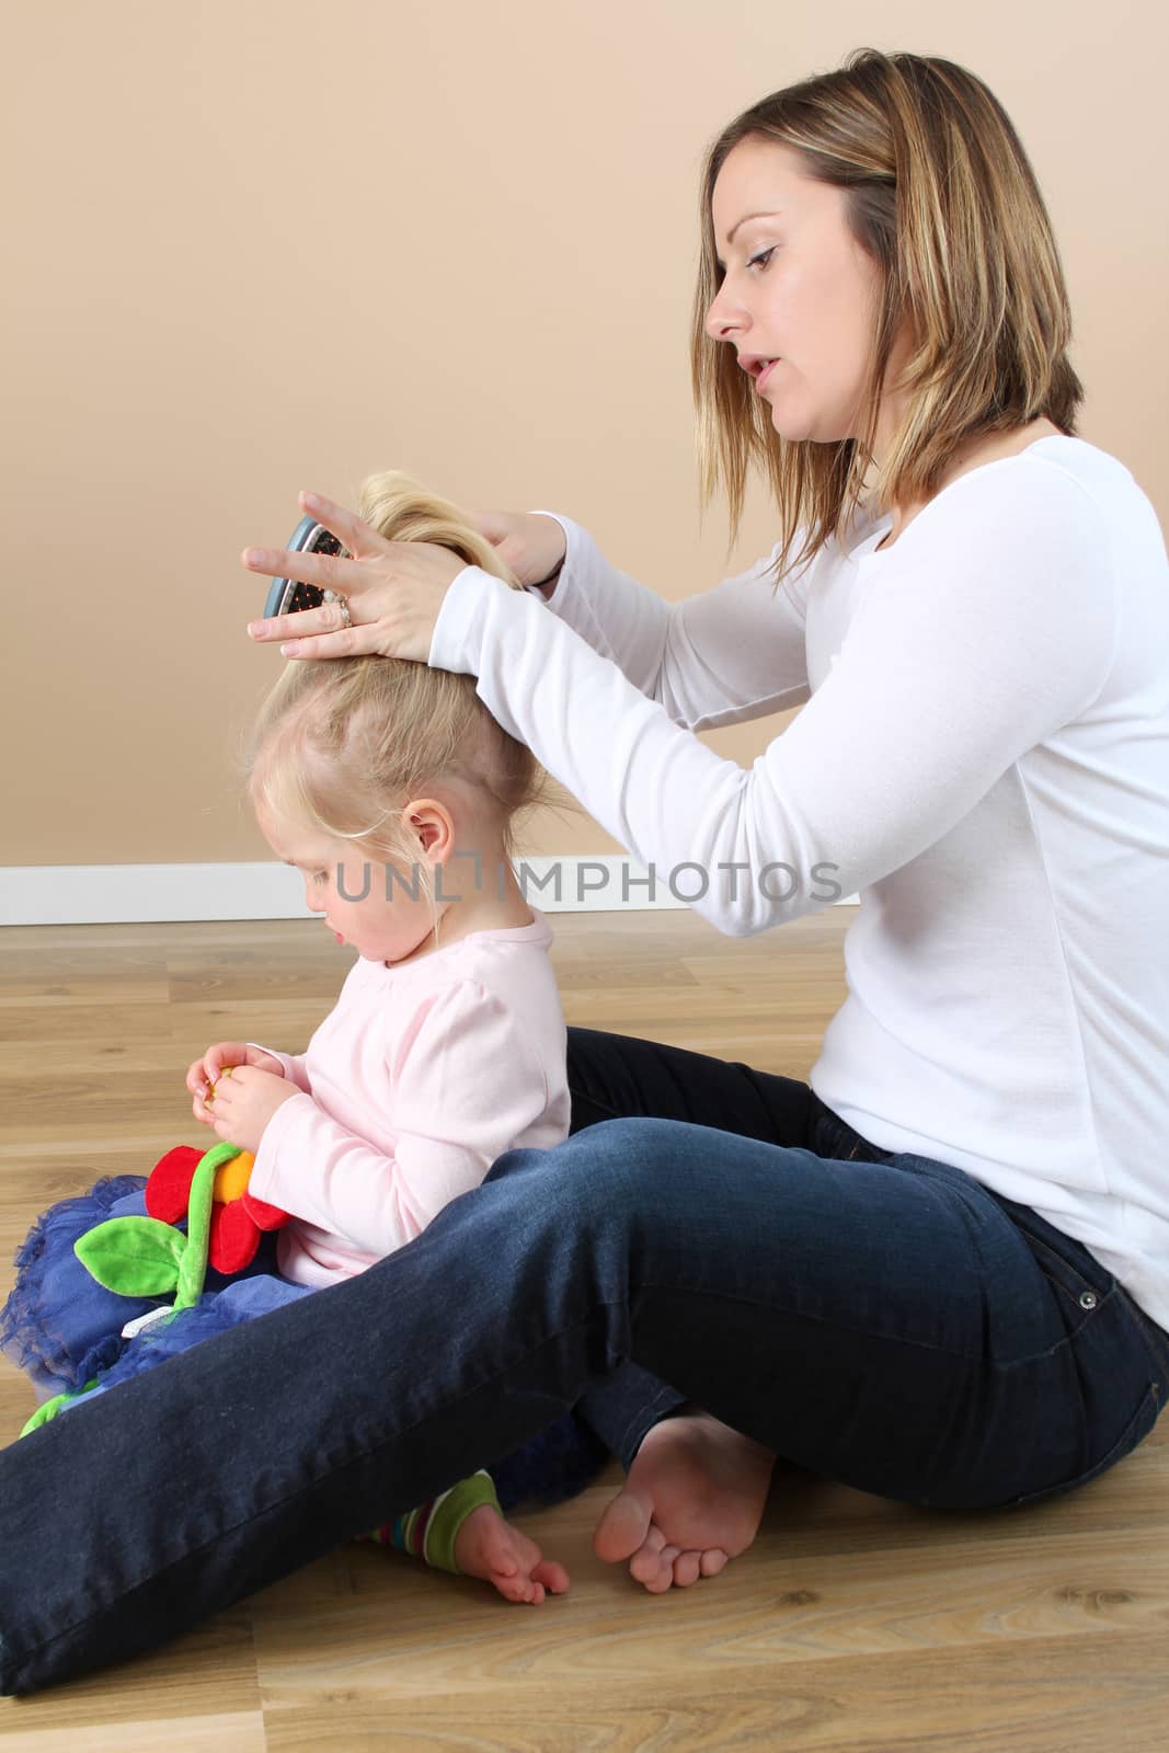
[(592, 1550), (652, 1595), (717, 1576), (759, 1529), (775, 1455), (699, 1408), (647, 1430)]

